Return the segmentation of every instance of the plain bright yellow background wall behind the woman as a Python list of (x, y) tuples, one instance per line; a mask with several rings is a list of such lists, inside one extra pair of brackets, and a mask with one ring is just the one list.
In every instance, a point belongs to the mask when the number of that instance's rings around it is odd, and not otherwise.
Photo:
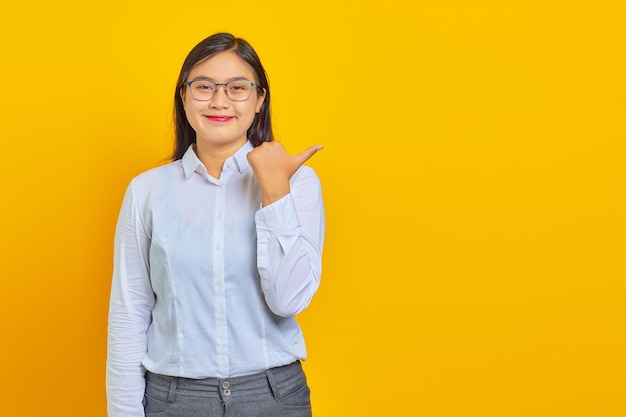
[(317, 417), (626, 416), (626, 3), (163, 3), (0, 6), (2, 415), (106, 415), (123, 192), (232, 31), (325, 146)]

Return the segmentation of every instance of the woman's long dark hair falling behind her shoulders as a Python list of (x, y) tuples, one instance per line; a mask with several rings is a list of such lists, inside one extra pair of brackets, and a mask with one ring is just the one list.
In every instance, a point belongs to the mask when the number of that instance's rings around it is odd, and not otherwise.
[(255, 115), (254, 121), (248, 129), (248, 140), (255, 147), (263, 142), (274, 140), (270, 118), (270, 87), (259, 56), (245, 39), (236, 38), (230, 33), (216, 33), (197, 44), (189, 52), (180, 69), (176, 91), (174, 92), (174, 124), (176, 126), (176, 142), (172, 153), (172, 160), (174, 161), (181, 159), (189, 145), (196, 143), (196, 132), (187, 121), (181, 97), (181, 91), (185, 87), (184, 83), (187, 82), (189, 72), (199, 62), (225, 51), (233, 51), (248, 64), (254, 72), (257, 93), (265, 95), (261, 110)]

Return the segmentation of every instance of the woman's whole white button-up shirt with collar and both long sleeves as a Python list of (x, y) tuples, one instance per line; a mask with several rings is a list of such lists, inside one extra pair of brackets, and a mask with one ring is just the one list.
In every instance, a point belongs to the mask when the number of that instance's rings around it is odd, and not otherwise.
[(324, 208), (314, 171), (261, 208), (246, 143), (211, 177), (190, 147), (130, 183), (109, 306), (109, 417), (142, 417), (144, 371), (233, 377), (306, 357), (294, 315), (320, 281)]

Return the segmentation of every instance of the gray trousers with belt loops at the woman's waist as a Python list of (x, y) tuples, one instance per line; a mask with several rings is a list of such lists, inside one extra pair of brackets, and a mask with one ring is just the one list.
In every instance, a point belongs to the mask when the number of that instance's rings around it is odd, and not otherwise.
[(311, 417), (300, 361), (235, 378), (146, 373), (146, 417)]

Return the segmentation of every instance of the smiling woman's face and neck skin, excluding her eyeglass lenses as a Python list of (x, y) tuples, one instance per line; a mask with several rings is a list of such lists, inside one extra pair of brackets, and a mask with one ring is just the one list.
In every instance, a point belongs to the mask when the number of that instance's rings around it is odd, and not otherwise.
[[(226, 51), (198, 63), (190, 71), (187, 81), (209, 80), (226, 84), (237, 79), (256, 83), (250, 67), (234, 52)], [(212, 99), (198, 101), (191, 95), (190, 88), (185, 86), (181, 95), (187, 120), (196, 131), (197, 146), (243, 146), (247, 140), (246, 132), (265, 96), (259, 95), (255, 87), (248, 100), (232, 101), (226, 95), (226, 88), (219, 86)]]

